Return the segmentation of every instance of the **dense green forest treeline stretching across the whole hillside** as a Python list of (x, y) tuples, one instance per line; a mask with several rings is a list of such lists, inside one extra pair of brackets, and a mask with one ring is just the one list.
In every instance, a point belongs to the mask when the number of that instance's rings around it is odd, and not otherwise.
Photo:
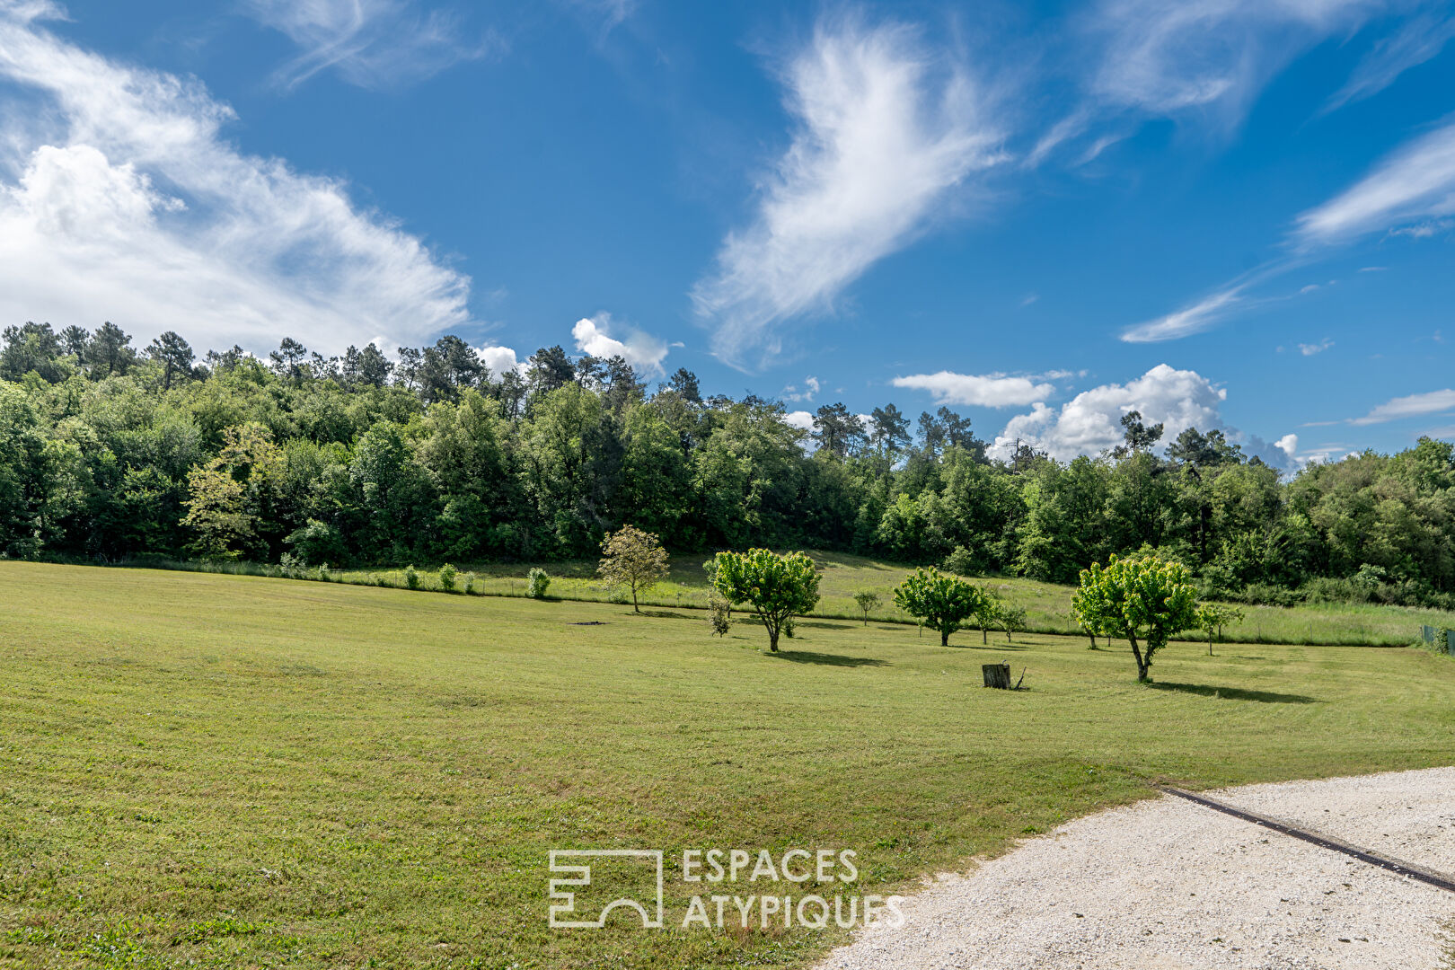
[(677, 550), (819, 547), (1074, 582), (1151, 547), (1212, 595), (1455, 604), (1455, 454), (1422, 439), (1292, 480), (1221, 432), (1061, 464), (988, 457), (940, 409), (813, 430), (777, 401), (650, 390), (620, 358), (537, 352), (492, 375), (457, 337), (342, 358), (294, 340), (201, 362), (175, 333), (7, 327), (0, 550), (349, 564), (557, 558), (630, 522)]

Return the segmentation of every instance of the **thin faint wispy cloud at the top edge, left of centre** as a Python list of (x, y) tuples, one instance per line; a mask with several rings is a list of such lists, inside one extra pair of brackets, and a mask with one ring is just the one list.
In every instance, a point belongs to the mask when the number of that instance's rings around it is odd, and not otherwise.
[(243, 10), (303, 48), (278, 71), (284, 87), (329, 68), (359, 87), (397, 87), (499, 47), (493, 36), (467, 44), (458, 13), (413, 0), (244, 0)]

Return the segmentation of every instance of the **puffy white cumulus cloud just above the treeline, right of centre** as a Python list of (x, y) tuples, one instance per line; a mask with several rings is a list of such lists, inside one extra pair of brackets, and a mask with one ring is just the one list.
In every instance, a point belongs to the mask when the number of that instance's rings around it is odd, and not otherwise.
[(1165, 425), (1163, 442), (1168, 442), (1186, 428), (1203, 432), (1224, 428), (1219, 409), (1227, 396), (1196, 371), (1158, 364), (1135, 381), (1094, 387), (1059, 409), (1033, 404), (1029, 414), (1005, 423), (994, 448), (1008, 455), (1018, 439), (1062, 461), (1094, 455), (1122, 442), (1122, 416), (1133, 410), (1148, 425)]

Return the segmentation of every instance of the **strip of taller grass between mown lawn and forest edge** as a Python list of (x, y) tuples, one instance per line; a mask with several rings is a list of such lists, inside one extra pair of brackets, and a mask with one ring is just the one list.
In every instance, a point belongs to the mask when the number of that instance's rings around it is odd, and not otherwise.
[[(879, 608), (872, 614), (885, 622), (909, 622), (893, 605), (892, 590), (909, 573), (904, 566), (892, 566), (860, 556), (841, 553), (810, 553), (824, 567), (819, 582), (822, 599), (815, 615), (824, 618), (858, 617), (854, 593), (869, 589), (880, 596)], [(666, 608), (706, 606), (707, 577), (703, 572), (704, 556), (677, 556), (668, 582), (652, 589), (645, 604)], [(595, 577), (597, 561), (540, 563), (551, 576), (550, 595), (562, 599), (585, 602), (610, 602), (611, 590)], [(207, 567), (215, 569), (215, 567)], [(224, 567), (226, 569), (226, 567)], [(242, 567), (250, 569), (250, 567)], [(460, 567), (473, 569), (477, 580), (474, 589), (492, 596), (524, 596), (525, 574), (530, 564), (485, 564)], [(403, 586), (402, 570), (336, 570), (332, 576), (339, 582), (371, 583), (383, 579), (393, 586)], [(975, 579), (975, 577), (970, 577)], [(420, 572), (425, 589), (438, 589), (434, 572)], [(1029, 628), (1036, 633), (1080, 633), (1071, 618), (1069, 586), (1040, 583), (1020, 577), (975, 579), (989, 586), (1007, 601), (1026, 608)], [(1411, 609), (1406, 606), (1381, 606), (1369, 604), (1318, 604), (1293, 608), (1283, 606), (1240, 606), (1243, 624), (1224, 630), (1228, 643), (1305, 643), (1305, 644), (1350, 644), (1350, 646), (1407, 646), (1420, 636), (1420, 627), (1455, 627), (1455, 612), (1439, 609)]]

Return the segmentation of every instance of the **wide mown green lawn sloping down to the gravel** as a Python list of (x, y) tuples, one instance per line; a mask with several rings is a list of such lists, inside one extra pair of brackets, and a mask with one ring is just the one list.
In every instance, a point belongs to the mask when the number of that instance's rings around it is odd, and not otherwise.
[[(885, 893), (1154, 779), (1455, 750), (1419, 650), (1173, 644), (1138, 685), (1081, 638), (770, 656), (682, 608), (208, 573), (0, 561), (0, 967), (803, 966), (841, 931), (684, 931), (674, 857), (854, 849)], [(550, 929), (553, 848), (665, 849), (666, 928)]]

